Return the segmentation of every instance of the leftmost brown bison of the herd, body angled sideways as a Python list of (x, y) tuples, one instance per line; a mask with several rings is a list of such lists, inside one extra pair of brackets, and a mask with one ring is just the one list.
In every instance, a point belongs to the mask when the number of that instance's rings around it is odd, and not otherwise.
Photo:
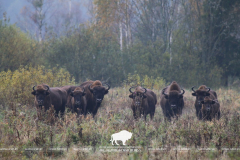
[(42, 84), (33, 86), (32, 94), (35, 96), (35, 106), (42, 109), (44, 106), (45, 111), (48, 110), (51, 105), (54, 106), (55, 115), (57, 116), (59, 111), (61, 115), (64, 114), (65, 105), (67, 103), (67, 93), (65, 90), (57, 87), (49, 88), (48, 85)]

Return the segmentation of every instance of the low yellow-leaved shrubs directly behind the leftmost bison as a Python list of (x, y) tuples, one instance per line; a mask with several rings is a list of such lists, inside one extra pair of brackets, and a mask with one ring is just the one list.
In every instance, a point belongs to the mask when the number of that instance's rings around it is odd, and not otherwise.
[(0, 72), (1, 104), (5, 105), (10, 102), (32, 104), (32, 87), (42, 83), (48, 84), (50, 87), (59, 87), (75, 84), (75, 79), (65, 69), (46, 69), (44, 66), (20, 67), (13, 72), (2, 71)]

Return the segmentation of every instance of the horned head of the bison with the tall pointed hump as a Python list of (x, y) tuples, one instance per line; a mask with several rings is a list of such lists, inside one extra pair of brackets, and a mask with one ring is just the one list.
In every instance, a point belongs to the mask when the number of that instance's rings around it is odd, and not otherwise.
[(162, 94), (164, 97), (168, 100), (168, 103), (172, 109), (176, 109), (178, 106), (181, 106), (181, 100), (183, 98), (183, 94), (185, 91), (182, 89), (182, 93), (179, 93), (179, 91), (170, 91), (169, 94), (165, 93), (166, 88), (162, 90)]

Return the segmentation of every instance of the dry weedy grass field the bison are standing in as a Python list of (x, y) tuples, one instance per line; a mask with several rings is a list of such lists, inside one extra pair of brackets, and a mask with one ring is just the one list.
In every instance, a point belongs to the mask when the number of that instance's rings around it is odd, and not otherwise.
[[(221, 118), (199, 121), (195, 115), (191, 91), (184, 94), (185, 107), (178, 120), (165, 122), (159, 105), (159, 90), (153, 121), (147, 117), (134, 120), (128, 87), (110, 89), (95, 119), (76, 118), (67, 112), (64, 120), (55, 119), (53, 111), (40, 116), (32, 105), (10, 103), (1, 106), (1, 159), (237, 159), (240, 151), (240, 95), (235, 90), (218, 89)], [(34, 97), (32, 97), (34, 99)], [(127, 146), (139, 150), (103, 152), (112, 147), (113, 133), (133, 133)], [(122, 146), (122, 142), (119, 141)], [(90, 151), (83, 151), (92, 149)], [(16, 148), (16, 150), (9, 150)], [(164, 150), (157, 150), (164, 148)], [(179, 148), (179, 149), (176, 149)], [(188, 148), (188, 150), (184, 150)], [(203, 149), (205, 148), (205, 150)], [(180, 150), (182, 149), (182, 150)], [(227, 151), (227, 149), (229, 149)]]

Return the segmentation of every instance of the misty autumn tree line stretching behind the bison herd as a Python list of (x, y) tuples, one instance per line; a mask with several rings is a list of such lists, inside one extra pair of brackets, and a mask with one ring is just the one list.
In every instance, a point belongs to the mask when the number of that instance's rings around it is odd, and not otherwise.
[(44, 65), (66, 69), (76, 83), (112, 86), (133, 75), (184, 87), (227, 86), (240, 76), (238, 0), (93, 0), (89, 21), (67, 28), (43, 27), (45, 2), (29, 1), (38, 34), (9, 24), (7, 15), (0, 21), (0, 71)]

